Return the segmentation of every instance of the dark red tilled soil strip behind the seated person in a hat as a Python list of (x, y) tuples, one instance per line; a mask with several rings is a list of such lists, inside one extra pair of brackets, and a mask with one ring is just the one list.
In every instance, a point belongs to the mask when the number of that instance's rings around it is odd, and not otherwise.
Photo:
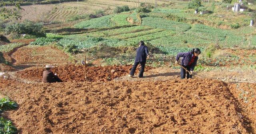
[[(115, 78), (128, 75), (132, 66), (98, 66), (98, 67), (87, 67), (86, 74), (88, 81), (110, 81)], [(145, 71), (152, 69), (147, 67)], [(41, 81), (44, 68), (28, 68), (17, 72), (16, 75), (19, 78), (31, 81)], [(85, 81), (84, 66), (56, 66), (53, 69), (54, 73), (57, 73), (59, 78), (64, 82), (74, 81), (83, 82)], [(138, 72), (138, 68), (137, 71)]]

